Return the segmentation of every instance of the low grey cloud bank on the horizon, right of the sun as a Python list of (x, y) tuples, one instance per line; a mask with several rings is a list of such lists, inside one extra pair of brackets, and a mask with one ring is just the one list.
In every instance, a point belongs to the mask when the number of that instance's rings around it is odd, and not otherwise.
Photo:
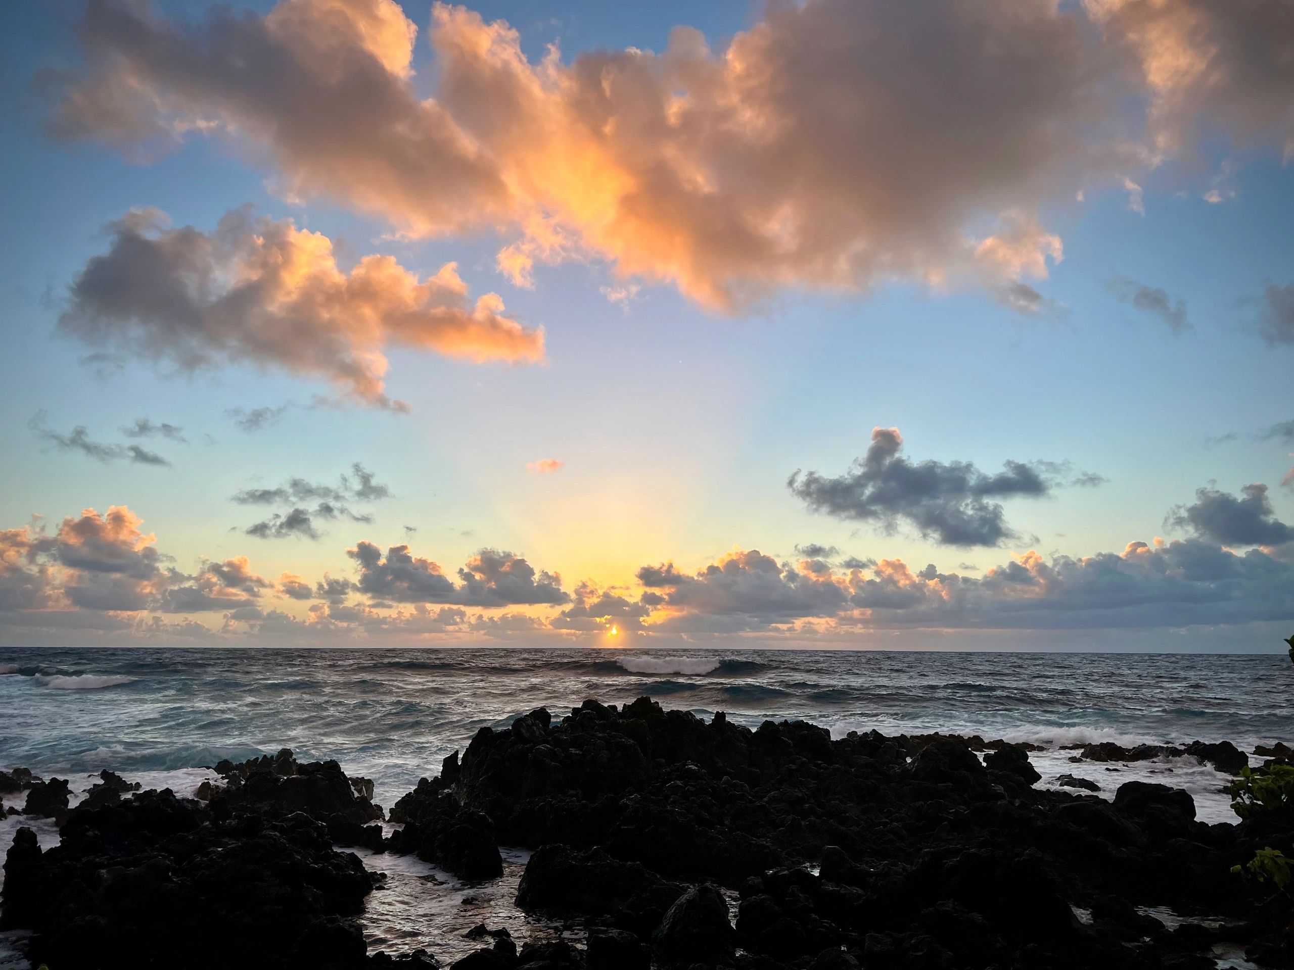
[(1130, 542), (1121, 554), (1030, 551), (982, 577), (902, 560), (807, 573), (734, 551), (695, 576), (644, 566), (647, 631), (791, 631), (804, 636), (903, 627), (1066, 630), (1181, 627), (1294, 618), (1294, 565), (1202, 541)]

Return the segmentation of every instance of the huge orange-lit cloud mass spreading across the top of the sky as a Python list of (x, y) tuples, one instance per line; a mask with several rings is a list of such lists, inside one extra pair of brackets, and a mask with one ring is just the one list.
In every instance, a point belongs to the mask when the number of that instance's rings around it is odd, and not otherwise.
[(1018, 277), (1044, 277), (1058, 239), (985, 277), (1003, 234), (983, 226), (1136, 186), (1216, 129), (1284, 144), (1289, 19), (1263, 0), (810, 0), (718, 49), (675, 27), (661, 53), (531, 62), (507, 23), (435, 4), (426, 98), (392, 0), (189, 22), (97, 0), (50, 128), (146, 158), (232, 140), (285, 197), (408, 235), (498, 233), (520, 286), (597, 259), (611, 290), (668, 282), (725, 310), (780, 287), (980, 279), (1036, 313), (1055, 305)]

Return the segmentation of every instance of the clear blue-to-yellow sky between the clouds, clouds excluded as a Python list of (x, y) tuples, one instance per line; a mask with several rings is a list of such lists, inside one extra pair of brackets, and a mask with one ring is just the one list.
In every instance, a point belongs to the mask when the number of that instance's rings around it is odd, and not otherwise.
[[(353, 0), (357, 8), (369, 3)], [(250, 5), (247, 17), (259, 18), (272, 6)], [(201, 23), (206, 6), (154, 9), (158, 18)], [(559, 43), (567, 67), (586, 52), (664, 52), (675, 25), (697, 27), (710, 49), (722, 52), (762, 17), (758, 6), (745, 3), (631, 9), (490, 3), (472, 9), (484, 23), (502, 18), (515, 27), (531, 65), (549, 43)], [(418, 97), (437, 97), (440, 65), (427, 43), (431, 5), (406, 3), (402, 13), (418, 27), (410, 84)], [(1122, 172), (1109, 168), (1083, 176), (1082, 199), (1055, 186), (1030, 197), (1039, 224), (1064, 246), (1062, 260), (1047, 260), (1046, 278), (1027, 279), (1049, 301), (1044, 312), (1022, 314), (1004, 305), (995, 299), (996, 278), (986, 282), (974, 270), (956, 275), (958, 268), (949, 283), (934, 286), (903, 273), (858, 274), (846, 286), (822, 286), (788, 270), (789, 282), (751, 304), (725, 308), (704, 305), (668, 270), (655, 277), (617, 273), (633, 255), (587, 242), (591, 237), (551, 265), (540, 260), (533, 286), (519, 286), (496, 266), (496, 253), (515, 238), (515, 226), (477, 225), (413, 238), (397, 232), (399, 213), (365, 211), (329, 193), (286, 198), (277, 188), (282, 172), (267, 160), (259, 135), (233, 128), (224, 137), (189, 133), (171, 150), (150, 155), (105, 144), (92, 124), (75, 141), (50, 137), (48, 120), (67, 85), (84, 83), (78, 79), (94, 70), (76, 44), (84, 10), (79, 4), (21, 5), (0, 17), (6, 38), (0, 79), (6, 145), (0, 219), (6, 229), (0, 259), (8, 268), (0, 343), (9, 361), (0, 384), (0, 447), (8, 457), (0, 526), (26, 530), (28, 539), (39, 532), (48, 541), (47, 548), (10, 557), (10, 578), (19, 568), (44, 566), (48, 588), (0, 608), (0, 641), (202, 640), (207, 634), (180, 626), (192, 621), (214, 638), (261, 643), (272, 639), (268, 627), (261, 629), (264, 617), (277, 613), (299, 625), (294, 635), (325, 639), (371, 638), (373, 625), (380, 625), (400, 627), (399, 636), (409, 641), (476, 641), (492, 635), (483, 632), (485, 620), (512, 616), (524, 620), (515, 621), (507, 636), (525, 641), (604, 643), (616, 626), (617, 635), (641, 643), (730, 638), (866, 645), (866, 631), (884, 629), (923, 645), (934, 635), (929, 631), (982, 631), (994, 629), (992, 620), (976, 613), (973, 603), (959, 607), (956, 616), (911, 621), (899, 618), (902, 610), (885, 613), (863, 600), (836, 612), (805, 607), (779, 613), (740, 598), (697, 605), (687, 585), (665, 587), (666, 601), (652, 604), (641, 599), (650, 590), (638, 572), (673, 561), (694, 577), (694, 586), (704, 585), (696, 570), (734, 550), (760, 550), (785, 563), (779, 591), (804, 588), (802, 581), (788, 579), (801, 574), (796, 564), (804, 556), (796, 547), (820, 543), (837, 548), (824, 561), (840, 588), (850, 582), (846, 557), (873, 560), (872, 566), (902, 560), (912, 572), (933, 563), (941, 573), (980, 581), (1030, 550), (1044, 559), (1117, 556), (1128, 542), (1154, 537), (1225, 547), (1228, 555), (1249, 555), (1251, 564), (1262, 557), (1277, 578), (1256, 590), (1228, 587), (1225, 594), (1201, 587), (1201, 599), (1222, 595), (1234, 600), (1236, 609), (1183, 614), (1180, 623), (1170, 622), (1162, 601), (1136, 617), (1092, 609), (1087, 620), (1065, 623), (1101, 631), (1097, 640), (1084, 632), (1083, 644), (1144, 647), (1146, 629), (1192, 626), (1198, 627), (1194, 648), (1276, 649), (1280, 643), (1272, 635), (1294, 621), (1294, 586), (1284, 585), (1281, 594), (1285, 574), (1278, 572), (1294, 563), (1294, 546), (1237, 543), (1188, 519), (1166, 521), (1174, 507), (1196, 503), (1200, 488), (1240, 495), (1253, 482), (1268, 486), (1264, 523), (1294, 519), (1294, 491), (1280, 484), (1294, 464), (1294, 436), (1263, 437), (1294, 418), (1288, 378), (1294, 344), (1264, 341), (1259, 332), (1268, 312), (1266, 287), (1294, 282), (1294, 234), (1286, 216), (1294, 211), (1294, 177), (1282, 163), (1284, 133), (1276, 123), (1244, 137), (1210, 128), (1207, 138), (1181, 145), (1157, 164), (1127, 166), (1144, 193), (1144, 212), (1132, 210)], [(1222, 36), (1233, 27), (1215, 30)], [(71, 80), (50, 80), (52, 70), (69, 72)], [(1291, 103), (1291, 92), (1280, 91), (1277, 80), (1275, 94), (1262, 94)], [(159, 75), (148, 83), (163, 97), (172, 93), (166, 85), (173, 79)], [(1145, 98), (1153, 101), (1153, 94)], [(1198, 98), (1201, 114), (1212, 110), (1210, 97)], [(1256, 92), (1234, 97), (1259, 101)], [(907, 124), (911, 132), (897, 131), (895, 138), (927, 137), (920, 116)], [(866, 168), (866, 160), (861, 164)], [(1229, 198), (1206, 202), (1203, 195), (1218, 185)], [(419, 278), (457, 263), (471, 300), (497, 292), (510, 319), (543, 329), (543, 362), (472, 363), (388, 345), (387, 393), (411, 407), (399, 414), (334, 393), (317, 374), (272, 358), (176, 372), (172, 362), (118, 348), (120, 370), (97, 375), (83, 362), (96, 348), (56, 332), (72, 299), (69, 285), (111, 246), (105, 224), (149, 206), (168, 213), (173, 226), (212, 232), (225, 212), (243, 204), (256, 216), (291, 219), (326, 235), (343, 272), (369, 253), (393, 256)], [(992, 233), (994, 219), (1018, 204), (1008, 200), (998, 212), (972, 207), (964, 232)], [(591, 230), (575, 220), (569, 232)], [(1121, 301), (1110, 288), (1115, 278), (1183, 301), (1192, 329), (1175, 334), (1156, 314)], [(603, 292), (626, 286), (639, 288), (625, 303)], [(320, 396), (333, 404), (312, 405)], [(255, 433), (238, 429), (229, 416), (234, 409), (285, 404), (290, 406), (281, 420)], [(45, 414), (34, 431), (38, 411)], [(124, 442), (118, 429), (141, 416), (182, 428), (185, 442), (140, 440), (170, 466), (100, 462), (39, 433), (44, 428), (66, 435), (84, 426), (96, 441)], [(875, 427), (897, 427), (912, 462), (969, 462), (991, 475), (1007, 460), (1046, 460), (1105, 481), (1096, 488), (1056, 482), (1039, 494), (1002, 498), (1013, 534), (980, 547), (950, 547), (923, 534), (902, 503), (850, 517), (814, 513), (791, 494), (785, 482), (796, 469), (844, 476), (867, 451)], [(560, 460), (560, 469), (528, 471), (528, 463), (545, 458)], [(373, 516), (370, 523), (331, 521), (318, 524), (318, 538), (264, 539), (246, 529), (286, 507), (230, 501), (239, 490), (274, 486), (291, 476), (335, 482), (356, 462), (391, 493), (360, 510)], [(943, 501), (956, 504), (965, 497)], [(144, 610), (100, 610), (105, 622), (89, 618), (78, 625), (88, 632), (70, 634), (67, 614), (79, 608), (60, 585), (75, 586), (78, 579), (60, 539), (61, 524), (67, 516), (79, 519), (84, 508), (102, 515), (110, 506), (128, 506), (142, 520), (138, 534), (118, 533), (114, 542), (141, 548), (140, 537), (151, 533), (153, 546), (172, 557), (168, 574), (135, 579), (146, 585), (146, 596), (163, 599)], [(34, 512), (45, 517), (43, 526), (27, 525)], [(505, 550), (534, 569), (559, 573), (568, 599), (419, 600), (400, 587), (392, 600), (347, 555), (360, 541), (382, 548), (408, 543), (415, 557), (440, 564), (450, 576), (481, 548)], [(168, 588), (202, 585), (211, 563), (242, 556), (265, 585), (228, 587), (230, 609), (177, 613), (157, 605)], [(862, 568), (855, 586), (867, 582), (872, 566)], [(329, 609), (340, 604), (294, 600), (281, 591), (281, 574), (313, 583), (325, 572), (355, 583), (344, 605), (369, 610), (367, 630), (330, 620)], [(607, 605), (609, 612), (582, 617), (578, 630), (569, 623), (554, 629), (551, 620), (562, 609), (591, 595), (575, 592), (581, 581), (599, 590), (617, 587), (625, 603), (646, 605)], [(30, 592), (31, 583), (23, 588)], [(1172, 595), (1190, 599), (1188, 592)], [(965, 595), (990, 594), (977, 587)], [(374, 605), (380, 603), (387, 605)], [(401, 627), (399, 617), (413, 616), (410, 610), (446, 604), (463, 612), (461, 622), (443, 631)], [(1246, 608), (1262, 622), (1237, 622)], [(226, 616), (237, 609), (247, 618)], [(848, 622), (841, 622), (841, 610), (849, 613)], [(160, 634), (142, 632), (151, 616), (168, 625)], [(475, 618), (483, 621), (476, 629)], [(309, 623), (316, 627), (307, 630)], [(1052, 638), (1046, 632), (1049, 623), (1008, 626), (1008, 639), (1017, 645), (1043, 647)]]

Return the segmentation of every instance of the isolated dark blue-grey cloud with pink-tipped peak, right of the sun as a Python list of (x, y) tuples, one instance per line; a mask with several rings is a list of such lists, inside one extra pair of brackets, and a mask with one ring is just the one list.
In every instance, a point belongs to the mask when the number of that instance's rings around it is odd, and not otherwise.
[[(902, 447), (898, 428), (873, 428), (867, 454), (844, 475), (796, 471), (787, 486), (813, 512), (872, 523), (885, 533), (906, 524), (945, 546), (999, 546), (1017, 534), (994, 499), (1044, 498), (1069, 469), (1064, 463), (1008, 460), (1003, 471), (987, 475), (970, 462), (914, 463)], [(1091, 485), (1097, 479), (1080, 473), (1077, 481)]]

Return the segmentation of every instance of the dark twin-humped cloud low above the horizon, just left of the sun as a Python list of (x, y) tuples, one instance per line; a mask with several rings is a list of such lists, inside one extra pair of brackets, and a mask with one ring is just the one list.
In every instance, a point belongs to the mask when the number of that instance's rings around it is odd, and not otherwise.
[(360, 569), (358, 590), (395, 603), (505, 607), (569, 600), (560, 576), (536, 572), (511, 552), (483, 548), (458, 570), (461, 586), (439, 564), (410, 554), (408, 546), (391, 546), (384, 559), (371, 542), (360, 542), (345, 554)]

